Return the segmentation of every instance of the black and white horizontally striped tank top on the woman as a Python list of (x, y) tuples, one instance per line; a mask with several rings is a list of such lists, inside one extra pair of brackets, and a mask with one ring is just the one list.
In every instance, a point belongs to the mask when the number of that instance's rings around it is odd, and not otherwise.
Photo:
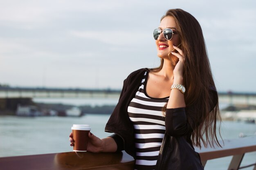
[(169, 97), (153, 98), (146, 94), (146, 71), (141, 86), (128, 106), (128, 115), (134, 127), (135, 170), (154, 170), (165, 133), (163, 106)]

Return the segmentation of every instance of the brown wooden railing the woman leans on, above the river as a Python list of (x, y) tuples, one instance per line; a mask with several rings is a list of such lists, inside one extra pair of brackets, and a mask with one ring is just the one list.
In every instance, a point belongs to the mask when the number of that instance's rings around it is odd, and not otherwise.
[[(222, 148), (196, 148), (204, 166), (207, 160), (233, 156), (228, 170), (245, 168), (240, 167), (240, 163), (245, 153), (256, 151), (256, 136), (224, 140), (224, 144)], [(133, 166), (133, 158), (124, 151), (63, 152), (0, 158), (0, 170), (133, 170)], [(256, 170), (255, 163), (251, 166)]]

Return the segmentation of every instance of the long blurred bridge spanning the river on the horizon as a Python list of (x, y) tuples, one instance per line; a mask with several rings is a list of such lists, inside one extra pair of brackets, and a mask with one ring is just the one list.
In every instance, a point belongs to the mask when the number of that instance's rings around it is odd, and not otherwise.
[[(121, 90), (1, 87), (0, 98), (119, 98)], [(256, 93), (218, 92), (220, 103), (256, 105)]]

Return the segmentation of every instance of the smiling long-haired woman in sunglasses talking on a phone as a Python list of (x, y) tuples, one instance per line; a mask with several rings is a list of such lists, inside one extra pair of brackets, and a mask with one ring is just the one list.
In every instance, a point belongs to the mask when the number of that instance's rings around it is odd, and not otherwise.
[[(160, 66), (124, 80), (105, 128), (114, 135), (99, 139), (90, 133), (88, 151), (125, 150), (137, 170), (202, 170), (193, 145), (220, 146), (218, 95), (202, 29), (191, 14), (171, 9), (153, 35)], [(72, 134), (70, 141), (73, 146)]]

